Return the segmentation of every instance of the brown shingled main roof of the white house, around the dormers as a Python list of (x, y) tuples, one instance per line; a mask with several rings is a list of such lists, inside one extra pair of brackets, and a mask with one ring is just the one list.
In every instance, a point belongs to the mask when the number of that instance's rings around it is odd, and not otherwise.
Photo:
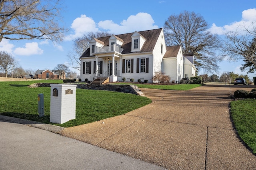
[[(148, 30), (148, 31), (139, 31), (138, 33), (140, 33), (140, 35), (142, 35), (146, 39), (146, 41), (144, 42), (144, 45), (142, 46), (142, 49), (140, 50), (140, 52), (133, 52), (133, 53), (143, 53), (143, 52), (153, 51), (153, 49), (156, 45), (156, 41), (157, 41), (161, 31), (162, 31), (162, 28), (152, 29), (152, 30)], [(122, 54), (132, 53), (131, 52), (132, 51), (132, 37), (131, 36), (133, 33), (115, 35), (116, 37), (118, 37), (124, 41), (124, 43), (121, 46), (121, 48), (124, 49), (122, 51)], [(109, 45), (108, 39), (110, 37), (111, 36), (100, 37), (97, 39), (104, 42), (104, 46), (108, 46)], [(90, 57), (90, 48), (88, 48), (81, 57)]]

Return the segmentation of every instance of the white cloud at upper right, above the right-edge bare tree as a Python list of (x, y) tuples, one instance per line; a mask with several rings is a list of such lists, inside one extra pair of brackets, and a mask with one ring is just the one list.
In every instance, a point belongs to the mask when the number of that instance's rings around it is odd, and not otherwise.
[[(212, 24), (212, 27), (209, 29), (211, 33), (216, 33), (223, 35), (224, 33), (227, 33), (228, 31), (236, 31), (239, 28), (248, 27), (250, 29), (250, 26), (252, 25), (252, 22), (256, 21), (256, 8), (244, 10), (242, 12), (242, 20), (241, 21), (235, 21), (233, 23), (230, 23), (229, 25), (224, 26), (216, 26), (215, 23)], [(242, 25), (242, 26), (241, 26)], [(241, 26), (241, 27), (239, 27)], [(242, 30), (241, 30), (242, 31)]]

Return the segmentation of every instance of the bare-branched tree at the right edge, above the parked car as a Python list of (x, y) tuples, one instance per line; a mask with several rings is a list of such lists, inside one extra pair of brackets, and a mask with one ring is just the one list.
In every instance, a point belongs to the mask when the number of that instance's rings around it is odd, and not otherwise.
[(256, 22), (250, 25), (239, 25), (236, 31), (226, 33), (224, 57), (230, 60), (243, 59), (245, 62), (240, 68), (248, 69), (248, 73), (256, 71)]

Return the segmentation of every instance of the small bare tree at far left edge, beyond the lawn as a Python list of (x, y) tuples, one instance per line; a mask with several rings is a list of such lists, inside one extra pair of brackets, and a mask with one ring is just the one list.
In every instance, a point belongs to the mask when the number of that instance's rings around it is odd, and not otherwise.
[(0, 51), (0, 69), (4, 70), (5, 77), (8, 77), (8, 72), (12, 71), (18, 62), (5, 51)]

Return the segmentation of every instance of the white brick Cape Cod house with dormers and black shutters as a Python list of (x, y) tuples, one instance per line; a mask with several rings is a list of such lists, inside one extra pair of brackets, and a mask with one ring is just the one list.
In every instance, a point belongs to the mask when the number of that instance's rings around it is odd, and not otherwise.
[[(184, 61), (181, 47), (181, 53), (168, 52), (168, 49), (171, 47), (166, 48), (162, 28), (93, 38), (90, 41), (90, 48), (80, 57), (80, 77), (83, 81), (99, 80), (97, 83), (102, 83), (104, 80), (122, 82), (123, 78), (126, 78), (126, 81), (133, 78), (135, 82), (138, 79), (141, 82), (152, 82), (154, 73), (160, 71), (169, 75), (171, 81), (175, 82), (185, 78), (185, 74), (188, 78), (194, 76), (195, 73), (188, 74), (184, 71), (184, 67), (187, 66), (184, 64), (191, 61)], [(191, 63), (190, 67), (193, 66)], [(192, 69), (195, 72), (195, 67), (188, 70)]]

